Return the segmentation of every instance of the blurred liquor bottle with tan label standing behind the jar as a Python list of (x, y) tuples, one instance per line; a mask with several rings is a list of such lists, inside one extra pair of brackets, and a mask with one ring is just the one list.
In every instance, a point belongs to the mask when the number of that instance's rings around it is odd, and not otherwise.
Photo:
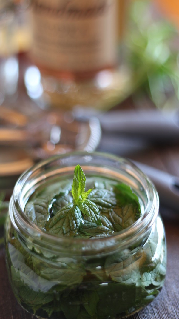
[(121, 48), (127, 3), (31, 1), (29, 58), (40, 70), (42, 92), (50, 105), (105, 110), (125, 95), (129, 73)]

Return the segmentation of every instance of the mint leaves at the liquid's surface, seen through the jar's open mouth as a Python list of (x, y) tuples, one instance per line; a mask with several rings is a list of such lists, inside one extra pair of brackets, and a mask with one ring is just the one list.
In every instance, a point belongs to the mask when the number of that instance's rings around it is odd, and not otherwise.
[[(72, 188), (67, 186), (65, 190), (60, 189), (50, 202), (44, 199), (42, 191), (25, 209), (27, 216), (31, 218), (33, 212), (33, 221), (42, 224), (50, 234), (109, 236), (131, 226), (140, 217), (138, 197), (129, 186), (120, 183), (109, 184), (108, 189), (102, 185), (101, 189), (94, 186), (85, 190), (86, 176), (79, 164), (74, 170)], [(44, 223), (45, 219), (48, 221)]]

